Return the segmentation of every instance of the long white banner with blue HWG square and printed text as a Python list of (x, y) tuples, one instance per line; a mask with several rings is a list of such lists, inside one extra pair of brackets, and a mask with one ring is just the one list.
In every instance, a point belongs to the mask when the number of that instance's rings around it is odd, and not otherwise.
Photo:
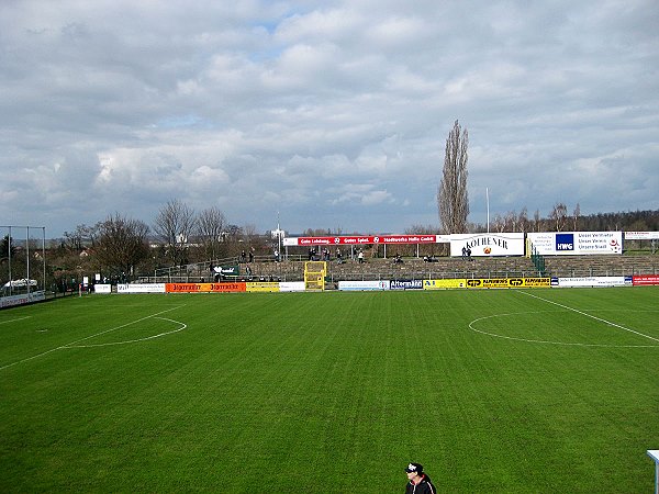
[(543, 256), (623, 254), (622, 232), (528, 233), (528, 239)]

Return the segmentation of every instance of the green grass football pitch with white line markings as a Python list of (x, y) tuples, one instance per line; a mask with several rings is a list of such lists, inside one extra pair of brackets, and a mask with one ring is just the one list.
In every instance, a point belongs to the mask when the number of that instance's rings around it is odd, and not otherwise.
[(651, 492), (658, 302), (547, 289), (0, 311), (0, 491), (394, 493), (417, 461), (442, 492)]

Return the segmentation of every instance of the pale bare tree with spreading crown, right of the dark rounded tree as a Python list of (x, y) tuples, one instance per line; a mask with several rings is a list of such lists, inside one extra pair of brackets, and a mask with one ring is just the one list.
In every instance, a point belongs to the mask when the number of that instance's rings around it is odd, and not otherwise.
[(156, 216), (154, 232), (166, 244), (167, 257), (175, 266), (185, 263), (196, 224), (194, 210), (178, 199), (165, 204)]

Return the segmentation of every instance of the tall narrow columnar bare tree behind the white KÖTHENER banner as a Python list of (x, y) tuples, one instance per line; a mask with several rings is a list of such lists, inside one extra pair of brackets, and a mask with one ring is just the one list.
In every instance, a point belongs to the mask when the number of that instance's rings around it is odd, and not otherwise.
[(456, 120), (446, 139), (444, 172), (437, 191), (439, 221), (445, 234), (466, 233), (469, 216), (467, 148), (469, 133)]

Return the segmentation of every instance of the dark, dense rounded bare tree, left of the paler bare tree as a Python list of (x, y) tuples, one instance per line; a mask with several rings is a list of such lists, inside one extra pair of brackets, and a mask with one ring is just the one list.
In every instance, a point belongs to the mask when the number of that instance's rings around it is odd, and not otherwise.
[(115, 213), (96, 225), (98, 242), (94, 248), (100, 266), (112, 272), (132, 274), (134, 267), (148, 257), (148, 226)]

